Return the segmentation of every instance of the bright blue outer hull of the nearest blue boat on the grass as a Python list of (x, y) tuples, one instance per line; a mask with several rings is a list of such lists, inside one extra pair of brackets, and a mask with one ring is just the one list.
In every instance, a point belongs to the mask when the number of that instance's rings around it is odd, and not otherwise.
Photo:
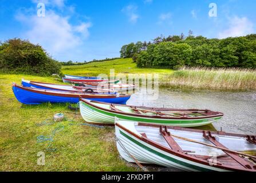
[[(37, 89), (38, 90), (38, 89)], [(41, 104), (45, 102), (51, 103), (77, 103), (80, 96), (74, 94), (58, 94), (58, 93), (38, 93), (34, 92), (33, 89), (24, 89), (22, 87), (13, 86), (13, 93), (17, 100), (22, 104)], [(82, 95), (81, 97), (90, 98), (90, 100), (104, 101), (104, 102), (115, 102), (116, 104), (125, 104), (129, 100), (130, 96), (125, 97), (113, 97), (113, 96), (104, 96), (101, 95)]]

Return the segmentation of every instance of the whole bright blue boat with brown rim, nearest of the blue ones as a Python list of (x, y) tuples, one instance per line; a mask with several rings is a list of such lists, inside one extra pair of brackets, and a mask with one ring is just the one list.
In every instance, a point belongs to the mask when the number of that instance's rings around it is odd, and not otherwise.
[(51, 103), (77, 103), (79, 98), (108, 102), (114, 104), (126, 104), (131, 95), (128, 94), (97, 94), (84, 92), (66, 92), (58, 90), (37, 89), (13, 84), (13, 93), (22, 104)]

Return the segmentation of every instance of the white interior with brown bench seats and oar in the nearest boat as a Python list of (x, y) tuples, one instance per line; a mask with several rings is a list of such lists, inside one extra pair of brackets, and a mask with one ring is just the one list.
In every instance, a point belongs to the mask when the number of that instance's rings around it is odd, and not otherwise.
[[(176, 152), (186, 153), (191, 157), (199, 158), (208, 162), (214, 160), (218, 165), (256, 170), (256, 157), (248, 157), (239, 153), (234, 153), (244, 152), (248, 153), (249, 156), (250, 154), (255, 156), (255, 136), (241, 137), (220, 134), (216, 135), (204, 131), (190, 132), (188, 130), (170, 129), (167, 128), (167, 126), (152, 127), (143, 124), (133, 125), (133, 128), (135, 128), (135, 132), (141, 134), (144, 138), (148, 138), (148, 140)], [(200, 142), (202, 144), (198, 144), (196, 142)], [(227, 152), (205, 144), (229, 149), (233, 152)]]

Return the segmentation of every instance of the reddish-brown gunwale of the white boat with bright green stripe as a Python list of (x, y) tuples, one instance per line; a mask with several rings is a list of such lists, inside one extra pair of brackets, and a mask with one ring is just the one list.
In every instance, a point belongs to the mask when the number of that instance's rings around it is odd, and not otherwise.
[[(133, 114), (133, 113), (126, 113), (126, 112), (120, 112), (120, 111), (116, 111), (116, 110), (111, 110), (111, 109), (105, 109), (105, 108), (101, 108), (100, 106), (94, 105), (92, 104), (92, 102), (98, 103), (98, 104), (107, 104), (110, 105), (111, 103), (107, 103), (107, 102), (100, 102), (100, 101), (93, 101), (93, 100), (85, 100), (84, 98), (80, 98), (80, 101), (85, 102), (86, 104), (93, 106), (94, 108), (100, 109), (100, 110), (104, 110), (107, 112), (111, 112), (111, 113), (117, 113), (117, 114), (123, 114), (123, 115), (128, 115), (128, 116), (136, 116), (136, 117), (146, 117), (146, 118), (160, 118), (160, 119), (183, 119), (183, 120), (194, 120), (194, 119), (206, 119), (206, 118), (212, 118), (212, 117), (222, 117), (224, 114), (218, 112), (219, 114), (215, 114), (215, 115), (210, 115), (210, 116), (203, 116), (203, 117), (163, 117), (163, 116), (147, 116), (147, 115), (143, 115), (143, 114)], [(88, 102), (89, 101), (89, 102)], [(124, 107), (132, 107), (132, 105), (123, 105), (123, 104), (114, 104), (115, 106), (124, 106)], [(163, 108), (150, 108), (150, 107), (144, 107), (144, 106), (136, 106), (136, 108), (143, 108), (143, 109), (163, 109)], [(166, 110), (170, 110), (168, 108), (164, 108)], [(172, 109), (173, 110), (173, 109)], [(180, 109), (179, 109), (180, 110)], [(182, 109), (182, 110), (186, 110), (186, 109)], [(190, 109), (191, 111), (195, 110), (195, 109)], [(197, 109), (196, 109), (197, 110)], [(210, 110), (211, 111), (211, 110)]]

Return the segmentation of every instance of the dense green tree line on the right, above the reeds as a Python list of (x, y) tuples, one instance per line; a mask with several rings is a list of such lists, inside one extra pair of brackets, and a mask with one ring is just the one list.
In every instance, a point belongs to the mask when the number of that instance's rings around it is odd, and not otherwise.
[(122, 58), (133, 58), (138, 67), (182, 66), (256, 68), (256, 34), (225, 39), (208, 39), (184, 34), (157, 37), (152, 42), (121, 47)]

